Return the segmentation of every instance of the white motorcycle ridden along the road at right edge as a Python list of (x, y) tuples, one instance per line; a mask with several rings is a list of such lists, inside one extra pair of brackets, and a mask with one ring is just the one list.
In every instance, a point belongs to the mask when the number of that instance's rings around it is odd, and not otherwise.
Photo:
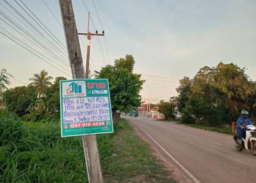
[(246, 125), (246, 138), (242, 138), (242, 143), (238, 142), (238, 133), (234, 135), (233, 142), (236, 150), (250, 150), (252, 155), (256, 155), (256, 127), (254, 125)]

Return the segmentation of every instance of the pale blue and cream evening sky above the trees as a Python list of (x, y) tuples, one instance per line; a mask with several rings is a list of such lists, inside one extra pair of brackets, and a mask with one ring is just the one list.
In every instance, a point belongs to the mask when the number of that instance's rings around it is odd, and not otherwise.
[[(20, 0), (16, 1), (20, 3)], [(58, 21), (47, 9), (44, 1)], [(0, 2), (0, 10), (19, 22), (14, 17), (17, 16), (15, 12), (11, 11), (14, 14), (12, 15), (5, 9), (8, 6), (4, 0)], [(22, 2), (65, 45), (57, 1)], [(87, 30), (88, 15), (83, 0), (72, 2), (77, 31), (84, 33)], [(31, 24), (38, 27), (26, 13), (22, 12), (15, 0), (8, 0), (8, 3), (17, 8)], [(94, 0), (100, 21), (92, 0), (84, 0), (84, 3), (91, 12), (97, 30), (102, 31), (101, 22), (106, 35), (106, 40), (103, 37), (92, 39), (90, 70), (99, 70), (106, 64), (113, 64), (115, 59), (123, 58), (125, 54), (132, 54), (136, 61), (134, 72), (142, 74), (142, 78), (147, 80), (141, 91), (143, 101), (168, 101), (171, 96), (177, 95), (175, 88), (179, 86), (179, 79), (184, 76), (193, 77), (205, 65), (215, 67), (220, 61), (246, 67), (246, 74), (253, 81), (256, 79), (256, 1)], [(3, 15), (0, 15), (0, 18), (3, 19)], [(90, 23), (90, 30), (93, 32), (95, 28), (92, 22)], [(22, 35), (0, 20), (0, 30), (3, 31), (3, 28), (31, 45)], [(45, 35), (44, 31), (41, 31)], [(79, 36), (79, 39), (85, 61), (86, 38)], [(32, 47), (36, 49), (35, 45)], [(54, 49), (51, 44), (49, 49)], [(59, 49), (60, 51), (56, 51), (57, 54), (65, 52)], [(45, 55), (44, 51), (40, 53)], [(22, 83), (29, 83), (29, 77), (33, 77), (33, 74), (42, 69), (47, 70), (52, 77), (65, 76), (70, 79), (68, 60), (66, 58), (61, 61), (67, 61), (67, 66), (55, 65), (58, 70), (0, 33), (0, 68), (6, 68)], [(63, 67), (67, 76), (60, 71), (64, 70)], [(9, 88), (24, 85), (13, 79), (11, 81)]]

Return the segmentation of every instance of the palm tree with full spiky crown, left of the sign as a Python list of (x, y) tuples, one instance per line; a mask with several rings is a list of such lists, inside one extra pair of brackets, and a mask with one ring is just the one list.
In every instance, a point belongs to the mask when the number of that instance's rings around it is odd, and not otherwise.
[(51, 86), (52, 77), (48, 76), (48, 72), (42, 70), (40, 74), (34, 74), (34, 77), (29, 78), (29, 81), (33, 81), (29, 85), (35, 86), (38, 92), (38, 98), (44, 97), (45, 89)]

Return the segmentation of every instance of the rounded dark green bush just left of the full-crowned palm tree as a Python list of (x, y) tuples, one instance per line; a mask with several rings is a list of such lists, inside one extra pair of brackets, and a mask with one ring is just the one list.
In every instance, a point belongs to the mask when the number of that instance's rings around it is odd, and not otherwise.
[(3, 102), (10, 113), (22, 116), (36, 103), (36, 88), (34, 86), (19, 86), (3, 93)]

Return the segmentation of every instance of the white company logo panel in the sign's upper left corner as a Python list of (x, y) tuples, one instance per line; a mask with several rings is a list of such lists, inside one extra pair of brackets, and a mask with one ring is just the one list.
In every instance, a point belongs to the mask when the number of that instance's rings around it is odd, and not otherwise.
[(63, 88), (63, 97), (84, 97), (85, 95), (85, 83), (82, 81), (65, 83)]

